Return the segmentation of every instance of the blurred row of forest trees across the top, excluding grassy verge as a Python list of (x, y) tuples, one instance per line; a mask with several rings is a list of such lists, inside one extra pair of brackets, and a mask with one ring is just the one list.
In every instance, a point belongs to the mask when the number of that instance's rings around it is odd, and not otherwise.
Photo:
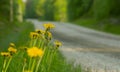
[[(50, 21), (118, 19), (119, 0), (0, 0), (0, 20), (38, 18)], [(20, 17), (21, 16), (21, 17)]]

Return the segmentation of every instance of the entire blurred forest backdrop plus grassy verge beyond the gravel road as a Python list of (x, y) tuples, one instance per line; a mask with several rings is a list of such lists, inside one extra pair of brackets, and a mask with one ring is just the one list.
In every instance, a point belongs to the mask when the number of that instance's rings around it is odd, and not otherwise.
[(0, 0), (0, 21), (71, 22), (120, 34), (120, 0)]

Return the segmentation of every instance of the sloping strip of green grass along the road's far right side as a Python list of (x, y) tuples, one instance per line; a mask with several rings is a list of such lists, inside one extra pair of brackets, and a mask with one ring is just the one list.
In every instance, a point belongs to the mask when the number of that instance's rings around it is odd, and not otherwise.
[(75, 24), (95, 30), (120, 35), (120, 23), (111, 22), (109, 19), (97, 21), (93, 18), (81, 18), (74, 21)]

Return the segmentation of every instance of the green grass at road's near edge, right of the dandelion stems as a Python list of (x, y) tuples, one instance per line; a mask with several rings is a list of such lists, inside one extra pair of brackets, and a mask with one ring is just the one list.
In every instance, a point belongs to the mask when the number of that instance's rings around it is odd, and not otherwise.
[(52, 61), (50, 72), (82, 72), (81, 66), (73, 66), (74, 63), (67, 63), (60, 52)]

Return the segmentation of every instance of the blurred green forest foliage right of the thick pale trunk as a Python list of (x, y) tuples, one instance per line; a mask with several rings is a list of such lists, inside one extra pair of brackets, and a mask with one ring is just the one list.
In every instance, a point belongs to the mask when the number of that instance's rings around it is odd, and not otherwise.
[(27, 17), (73, 21), (80, 17), (102, 20), (120, 16), (119, 0), (28, 0)]

